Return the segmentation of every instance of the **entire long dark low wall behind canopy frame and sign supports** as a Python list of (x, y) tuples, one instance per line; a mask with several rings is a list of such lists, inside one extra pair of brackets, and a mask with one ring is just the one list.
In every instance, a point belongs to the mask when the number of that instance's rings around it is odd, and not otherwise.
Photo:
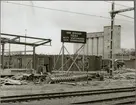
[[(75, 59), (75, 57), (77, 55), (71, 55), (73, 57), (73, 59)], [(53, 67), (56, 63), (56, 67), (55, 69), (59, 70), (60, 67), (62, 66), (62, 56), (59, 55), (59, 59), (56, 62), (58, 55), (37, 55), (36, 54), (36, 72), (39, 71), (40, 67), (43, 66), (44, 64), (48, 64), (48, 70), (51, 71), (53, 70)], [(31, 69), (32, 68), (32, 58), (33, 55), (12, 55), (11, 57), (11, 66), (10, 68), (27, 68), (27, 69)], [(22, 59), (22, 61), (19, 63), (18, 61), (19, 59)], [(69, 59), (69, 55), (64, 55), (64, 63)], [(88, 56), (89, 59), (87, 59), (87, 56), (85, 56), (85, 62), (88, 62), (89, 64), (89, 70), (90, 71), (95, 71), (95, 70), (100, 70), (101, 69), (101, 57), (98, 56)], [(4, 57), (4, 64), (5, 67), (8, 68), (8, 61), (9, 61), (9, 57), (5, 56)], [(7, 62), (7, 65), (6, 65)], [(30, 63), (29, 63), (30, 62)], [(70, 65), (72, 64), (72, 60), (70, 59), (70, 61), (64, 66), (64, 71), (67, 71), (68, 68), (70, 67)], [(83, 55), (80, 55), (78, 57), (78, 59), (76, 60), (76, 63), (79, 65), (79, 68), (81, 69), (81, 71), (83, 70)], [(28, 64), (28, 65), (27, 65)], [(86, 63), (85, 63), (86, 64)], [(6, 68), (5, 68), (6, 69)], [(60, 69), (61, 70), (61, 69)], [(78, 68), (75, 66), (75, 64), (72, 66), (71, 70), (73, 71), (78, 71)], [(85, 66), (85, 71), (87, 70), (86, 66)], [(46, 69), (44, 68), (44, 71), (46, 72)]]

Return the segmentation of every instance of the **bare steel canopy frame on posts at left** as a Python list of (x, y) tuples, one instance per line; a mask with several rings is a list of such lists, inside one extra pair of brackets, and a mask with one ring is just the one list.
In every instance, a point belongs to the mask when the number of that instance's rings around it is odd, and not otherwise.
[[(9, 59), (10, 59), (10, 44), (19, 44), (19, 45), (25, 45), (25, 46), (31, 46), (33, 48), (33, 69), (36, 69), (35, 64), (35, 50), (38, 46), (51, 46), (51, 39), (45, 39), (45, 38), (37, 38), (37, 37), (30, 37), (30, 36), (23, 36), (23, 35), (14, 35), (14, 34), (7, 34), (7, 33), (0, 33), (1, 34), (1, 46), (2, 46), (2, 54), (1, 56), (1, 66), (0, 68), (4, 69), (4, 51), (5, 51), (5, 44), (9, 44)], [(25, 41), (23, 40), (25, 39)], [(26, 42), (26, 40), (31, 40), (29, 42)], [(49, 43), (49, 45), (47, 45)], [(26, 50), (24, 51), (24, 54), (26, 54)]]

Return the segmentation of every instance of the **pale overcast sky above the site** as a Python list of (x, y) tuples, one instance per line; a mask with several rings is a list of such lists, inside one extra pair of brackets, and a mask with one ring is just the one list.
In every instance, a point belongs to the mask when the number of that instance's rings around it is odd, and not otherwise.
[[(86, 31), (89, 33), (103, 31), (104, 26), (110, 25), (110, 19), (107, 18), (60, 12), (13, 3), (80, 12), (109, 18), (111, 3), (105, 1), (2, 1), (1, 32), (18, 35), (25, 35), (26, 33), (27, 36), (52, 39), (51, 46), (37, 47), (36, 53), (58, 54), (62, 45), (60, 41), (62, 29)], [(115, 3), (115, 10), (133, 7), (132, 1), (116, 1)], [(128, 11), (122, 14), (134, 17), (134, 11)], [(121, 47), (134, 48), (134, 19), (117, 15), (115, 24), (121, 25)], [(25, 29), (27, 29), (27, 32), (25, 32)], [(65, 46), (70, 53), (73, 52), (73, 44), (65, 44)], [(11, 45), (11, 49), (14, 51), (24, 50), (24, 46)], [(27, 47), (27, 50), (31, 49), (31, 47)]]

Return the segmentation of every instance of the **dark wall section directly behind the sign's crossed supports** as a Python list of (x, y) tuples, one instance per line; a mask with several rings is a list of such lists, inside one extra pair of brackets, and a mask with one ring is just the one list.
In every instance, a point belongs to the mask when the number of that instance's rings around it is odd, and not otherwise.
[[(55, 57), (55, 59), (57, 59), (58, 55), (55, 55), (53, 57)], [(76, 56), (72, 55), (72, 57), (73, 57), (73, 59), (75, 59)], [(87, 60), (87, 58), (89, 58), (89, 59)], [(69, 59), (69, 56), (65, 55), (64, 56), (64, 62), (66, 62), (67, 59)], [(60, 70), (60, 71), (62, 70), (62, 69), (60, 69), (61, 68), (61, 60), (62, 60), (62, 58), (61, 58), (61, 56), (59, 56), (58, 62), (56, 63), (56, 67), (55, 67), (55, 69)], [(67, 63), (67, 65), (64, 66), (64, 71), (68, 70), (68, 68), (70, 67), (70, 65), (72, 64), (72, 62), (73, 61), (70, 60)], [(88, 57), (85, 56), (85, 62), (89, 63), (89, 71), (97, 71), (97, 70), (101, 69), (101, 64), (102, 64), (102, 58), (101, 58), (101, 56), (99, 56), (99, 57), (98, 56), (88, 56)], [(82, 66), (83, 65), (83, 56), (82, 55), (80, 55), (78, 57), (78, 59), (76, 60), (76, 63), (77, 63), (77, 65), (79, 65), (80, 70), (83, 71), (83, 66)], [(72, 66), (71, 70), (73, 70), (73, 71), (79, 71), (75, 64)], [(85, 66), (84, 71), (86, 71), (86, 70), (87, 70), (87, 68)]]

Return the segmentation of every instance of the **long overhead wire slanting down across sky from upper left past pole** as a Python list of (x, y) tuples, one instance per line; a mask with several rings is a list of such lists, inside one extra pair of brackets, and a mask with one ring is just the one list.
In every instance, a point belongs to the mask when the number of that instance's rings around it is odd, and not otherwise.
[[(16, 5), (22, 5), (22, 6), (29, 6), (29, 7), (39, 8), (39, 9), (47, 9), (47, 10), (52, 10), (52, 11), (65, 12), (65, 13), (73, 13), (73, 14), (78, 14), (78, 15), (99, 17), (99, 18), (104, 18), (104, 19), (109, 19), (109, 20), (111, 19), (110, 17), (105, 17), (105, 16), (92, 15), (92, 14), (87, 14), (87, 13), (73, 12), (73, 11), (67, 11), (67, 10), (61, 10), (61, 9), (54, 9), (54, 8), (47, 8), (47, 7), (40, 7), (40, 6), (35, 6), (35, 5), (21, 4), (21, 3), (9, 2), (9, 1), (4, 2), (4, 3), (16, 4)], [(128, 21), (128, 20), (122, 20), (122, 19), (116, 19), (116, 20)], [(128, 22), (133, 22), (133, 21), (128, 21)]]

